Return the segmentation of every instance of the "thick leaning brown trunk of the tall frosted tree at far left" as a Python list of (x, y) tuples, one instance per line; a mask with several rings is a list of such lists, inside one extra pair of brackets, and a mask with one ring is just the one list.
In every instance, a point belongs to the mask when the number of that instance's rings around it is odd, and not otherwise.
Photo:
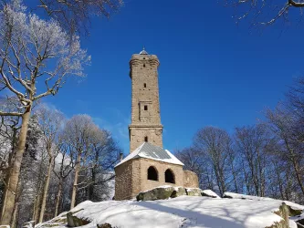
[(31, 113), (31, 106), (29, 106), (26, 109), (26, 112), (22, 116), (22, 126), (16, 147), (15, 161), (11, 170), (5, 207), (3, 210), (3, 214), (1, 216), (1, 224), (3, 225), (11, 224), (12, 222), (21, 162), (26, 147), (26, 134), (28, 129), (28, 120), (30, 118), (30, 113)]

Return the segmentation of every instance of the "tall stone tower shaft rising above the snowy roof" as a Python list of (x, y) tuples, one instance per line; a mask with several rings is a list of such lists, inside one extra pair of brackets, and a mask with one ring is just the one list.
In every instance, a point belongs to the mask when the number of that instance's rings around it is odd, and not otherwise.
[(160, 65), (155, 55), (143, 48), (130, 60), (131, 125), (129, 125), (130, 152), (147, 141), (162, 147), (162, 124), (158, 72)]

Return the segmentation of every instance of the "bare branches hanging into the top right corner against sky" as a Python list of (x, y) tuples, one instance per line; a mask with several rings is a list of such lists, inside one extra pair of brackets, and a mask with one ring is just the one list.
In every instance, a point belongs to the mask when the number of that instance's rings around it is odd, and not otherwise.
[(302, 0), (224, 0), (225, 6), (235, 8), (236, 22), (242, 19), (249, 19), (254, 26), (270, 26), (282, 19), (283, 22), (289, 21), (289, 12), (298, 11), (299, 18), (303, 16)]

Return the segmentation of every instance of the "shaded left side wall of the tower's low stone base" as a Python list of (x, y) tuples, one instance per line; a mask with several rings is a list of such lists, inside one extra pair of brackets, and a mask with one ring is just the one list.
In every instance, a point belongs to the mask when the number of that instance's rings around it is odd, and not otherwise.
[(115, 200), (129, 200), (132, 196), (132, 161), (126, 161), (115, 168)]

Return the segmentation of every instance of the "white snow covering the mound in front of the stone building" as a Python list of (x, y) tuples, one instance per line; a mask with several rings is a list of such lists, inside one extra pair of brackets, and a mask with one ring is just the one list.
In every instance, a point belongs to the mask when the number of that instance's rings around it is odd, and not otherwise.
[[(72, 211), (89, 223), (82, 228), (96, 228), (96, 224), (110, 223), (124, 228), (258, 228), (279, 222), (277, 200), (247, 201), (209, 197), (181, 196), (153, 202), (109, 201), (82, 202)], [(294, 203), (299, 208), (300, 205)], [(294, 227), (293, 222), (290, 223)], [(37, 228), (43, 226), (37, 225)]]

